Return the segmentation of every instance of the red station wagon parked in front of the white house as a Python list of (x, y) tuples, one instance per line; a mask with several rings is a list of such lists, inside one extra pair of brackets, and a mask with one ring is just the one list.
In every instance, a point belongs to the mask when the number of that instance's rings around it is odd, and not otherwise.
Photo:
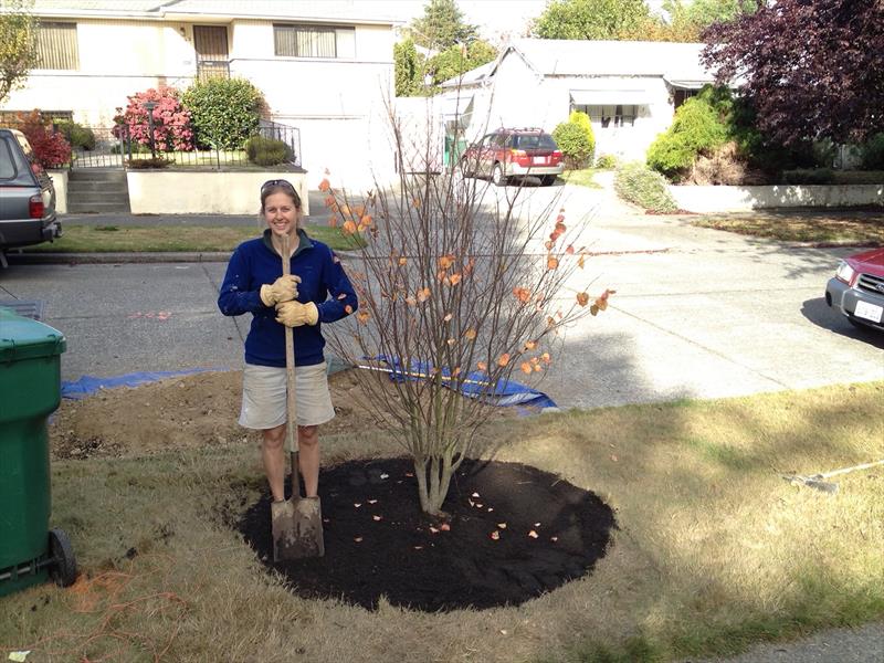
[(461, 162), (465, 176), (490, 176), (498, 187), (524, 176), (538, 177), (548, 187), (565, 169), (552, 136), (537, 128), (492, 131), (466, 148)]

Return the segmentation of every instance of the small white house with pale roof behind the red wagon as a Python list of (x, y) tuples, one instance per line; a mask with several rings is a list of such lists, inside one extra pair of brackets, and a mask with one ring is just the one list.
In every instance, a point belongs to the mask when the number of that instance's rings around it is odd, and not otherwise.
[[(486, 129), (552, 130), (571, 110), (587, 113), (596, 155), (644, 159), (673, 113), (713, 76), (703, 44), (518, 39), (498, 57), (448, 81), (444, 97), (469, 114), (467, 135)], [(451, 112), (449, 113), (452, 114)]]

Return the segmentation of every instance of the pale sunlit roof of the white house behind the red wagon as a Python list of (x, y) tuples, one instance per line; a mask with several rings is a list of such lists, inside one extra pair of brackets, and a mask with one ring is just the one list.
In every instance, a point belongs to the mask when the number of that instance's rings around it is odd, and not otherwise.
[(662, 76), (699, 87), (713, 81), (713, 74), (699, 62), (704, 46), (675, 42), (516, 39), (501, 50), (494, 62), (467, 72), (462, 81), (446, 81), (444, 86), (481, 84), (494, 76), (504, 57), (518, 56), (540, 76)]

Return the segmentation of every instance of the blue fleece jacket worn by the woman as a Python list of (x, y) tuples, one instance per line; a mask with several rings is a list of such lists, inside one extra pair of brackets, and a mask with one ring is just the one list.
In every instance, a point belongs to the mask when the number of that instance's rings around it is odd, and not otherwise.
[[(315, 326), (295, 327), (295, 365), (311, 366), (325, 360), (322, 323), (334, 323), (356, 311), (357, 299), (340, 260), (326, 244), (311, 240), (298, 230), (299, 244), (291, 260), (292, 274), (301, 277), (297, 301), (314, 302), (319, 311)], [(243, 242), (228, 263), (224, 282), (218, 295), (218, 307), (224, 315), (252, 314), (252, 326), (245, 338), (245, 362), (285, 367), (285, 327), (276, 322), (276, 309), (264, 306), (261, 286), (283, 274), (282, 257), (264, 236)], [(329, 297), (330, 295), (330, 297)]]

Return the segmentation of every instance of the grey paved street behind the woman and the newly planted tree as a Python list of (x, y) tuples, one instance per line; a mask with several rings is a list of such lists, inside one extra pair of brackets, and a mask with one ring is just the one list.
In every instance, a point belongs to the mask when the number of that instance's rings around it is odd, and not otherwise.
[[(491, 196), (507, 191), (492, 187)], [(559, 406), (884, 379), (884, 335), (854, 329), (823, 299), (839, 256), (851, 249), (785, 246), (696, 229), (638, 213), (610, 189), (538, 187), (523, 194), (525, 210), (552, 201), (569, 220), (592, 214), (583, 243), (594, 255), (575, 286), (617, 291), (606, 313), (587, 317), (558, 343), (539, 388)], [(225, 318), (215, 307), (224, 267), (13, 265), (0, 272), (0, 299), (44, 302), (44, 322), (67, 337), (65, 380), (240, 368), (249, 320)]]

